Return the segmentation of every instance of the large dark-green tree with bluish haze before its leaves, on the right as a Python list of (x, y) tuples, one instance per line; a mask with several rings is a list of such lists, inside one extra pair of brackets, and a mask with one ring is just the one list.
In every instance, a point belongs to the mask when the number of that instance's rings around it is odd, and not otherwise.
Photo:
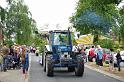
[(117, 0), (79, 0), (70, 21), (82, 34), (92, 33), (97, 39), (98, 34), (108, 33), (116, 24), (117, 3)]

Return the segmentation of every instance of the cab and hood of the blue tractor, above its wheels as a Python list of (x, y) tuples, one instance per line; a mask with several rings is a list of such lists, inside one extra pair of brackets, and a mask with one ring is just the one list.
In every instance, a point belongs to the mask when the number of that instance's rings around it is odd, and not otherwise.
[(53, 58), (59, 60), (60, 57), (67, 58), (72, 52), (71, 34), (69, 31), (51, 32)]

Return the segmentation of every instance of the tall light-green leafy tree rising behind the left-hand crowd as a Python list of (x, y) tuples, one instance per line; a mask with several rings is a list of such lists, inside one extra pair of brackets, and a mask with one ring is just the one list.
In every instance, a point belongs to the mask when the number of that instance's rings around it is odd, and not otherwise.
[(16, 43), (30, 45), (36, 22), (23, 0), (7, 0), (6, 36), (11, 40), (14, 36)]

